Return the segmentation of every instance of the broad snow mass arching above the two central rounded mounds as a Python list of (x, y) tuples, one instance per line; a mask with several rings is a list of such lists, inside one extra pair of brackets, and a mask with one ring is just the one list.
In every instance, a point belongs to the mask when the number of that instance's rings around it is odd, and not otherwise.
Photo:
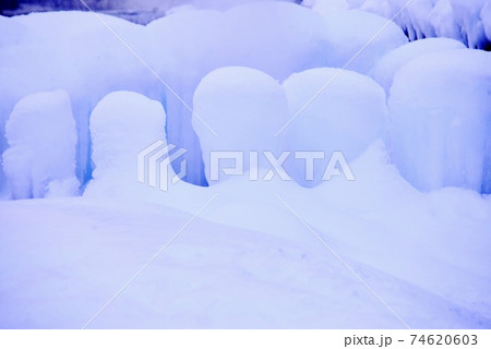
[(168, 141), (189, 149), (187, 180), (205, 183), (202, 155), (192, 132), (192, 98), (201, 80), (231, 65), (258, 69), (274, 79), (326, 65), (333, 51), (322, 16), (288, 2), (255, 2), (226, 12), (189, 10), (147, 26), (151, 65), (171, 86), (166, 93)]

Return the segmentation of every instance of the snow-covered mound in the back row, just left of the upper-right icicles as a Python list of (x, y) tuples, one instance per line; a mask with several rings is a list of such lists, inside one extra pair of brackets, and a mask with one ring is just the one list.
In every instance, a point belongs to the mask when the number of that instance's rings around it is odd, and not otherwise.
[(367, 73), (386, 52), (407, 43), (404, 32), (386, 19), (358, 10), (324, 14), (327, 36), (334, 48), (328, 67)]

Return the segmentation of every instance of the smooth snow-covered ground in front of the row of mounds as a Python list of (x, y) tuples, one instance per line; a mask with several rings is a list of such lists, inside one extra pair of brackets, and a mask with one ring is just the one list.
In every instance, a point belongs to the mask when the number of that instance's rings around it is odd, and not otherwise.
[[(315, 189), (189, 186), (192, 214), (217, 196), (89, 328), (402, 328), (275, 193), (409, 326), (489, 328), (489, 197), (420, 193), (386, 158), (375, 142), (352, 164), (357, 182)], [(0, 206), (3, 328), (82, 327), (192, 218), (104, 196)]]

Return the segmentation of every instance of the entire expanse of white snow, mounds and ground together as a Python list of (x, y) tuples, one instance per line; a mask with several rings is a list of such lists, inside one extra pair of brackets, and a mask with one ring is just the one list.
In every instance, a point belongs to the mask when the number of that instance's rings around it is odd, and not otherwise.
[(0, 16), (0, 327), (490, 328), (489, 1), (232, 2)]

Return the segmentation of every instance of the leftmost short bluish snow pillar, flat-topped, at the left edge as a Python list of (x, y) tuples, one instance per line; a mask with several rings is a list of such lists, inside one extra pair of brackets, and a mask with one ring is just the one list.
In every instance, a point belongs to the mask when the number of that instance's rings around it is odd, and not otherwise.
[(64, 91), (28, 95), (7, 122), (3, 170), (13, 198), (74, 195), (76, 132)]

